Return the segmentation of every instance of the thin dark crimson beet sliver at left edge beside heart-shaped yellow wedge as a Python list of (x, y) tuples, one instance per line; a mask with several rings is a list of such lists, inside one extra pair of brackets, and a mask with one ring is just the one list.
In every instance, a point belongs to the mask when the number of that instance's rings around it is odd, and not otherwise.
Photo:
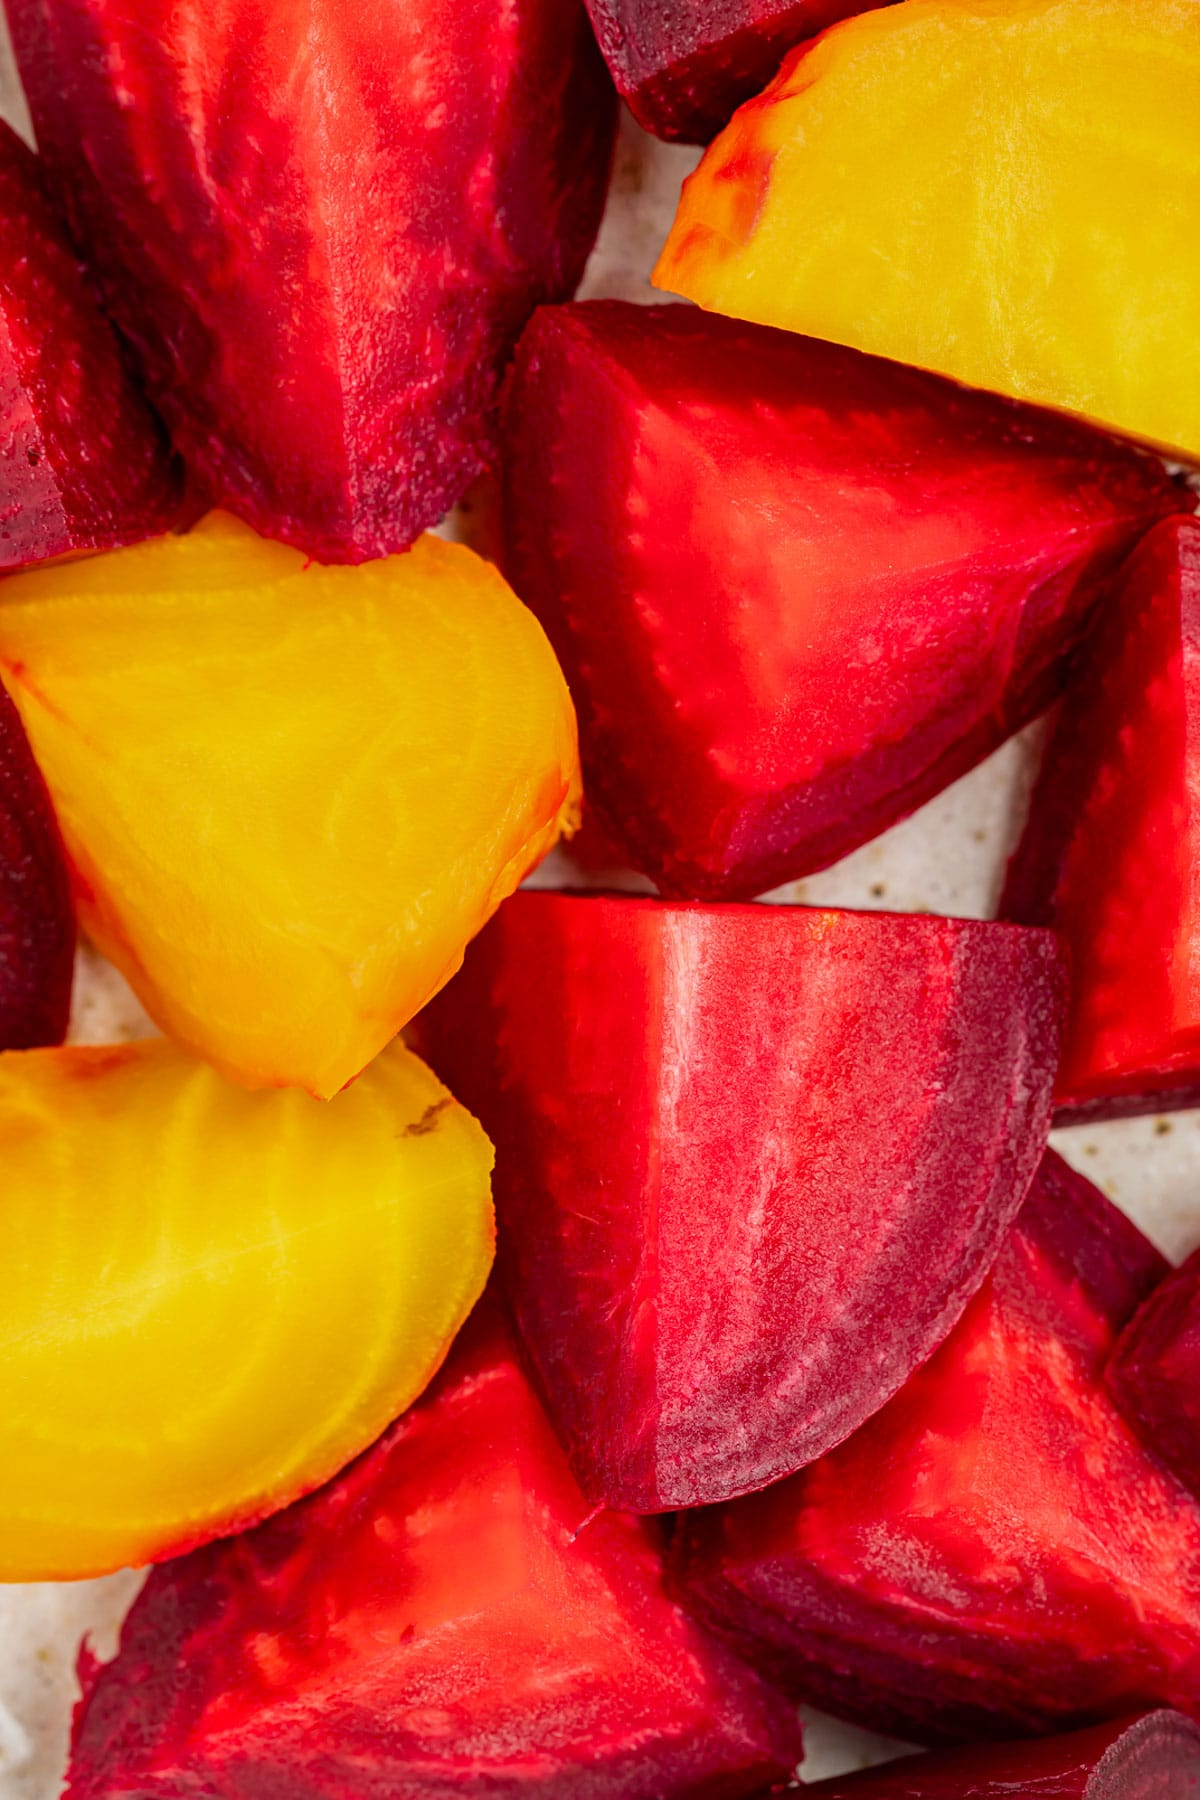
[(76, 914), (50, 796), (0, 688), (0, 1051), (63, 1042), (74, 959)]

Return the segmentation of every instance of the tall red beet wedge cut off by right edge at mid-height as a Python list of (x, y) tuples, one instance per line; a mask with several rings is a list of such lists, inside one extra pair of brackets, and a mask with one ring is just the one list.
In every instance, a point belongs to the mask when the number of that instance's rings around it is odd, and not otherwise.
[(1070, 945), (1063, 1121), (1200, 1103), (1200, 524), (1121, 572), (1051, 733), (1002, 911)]

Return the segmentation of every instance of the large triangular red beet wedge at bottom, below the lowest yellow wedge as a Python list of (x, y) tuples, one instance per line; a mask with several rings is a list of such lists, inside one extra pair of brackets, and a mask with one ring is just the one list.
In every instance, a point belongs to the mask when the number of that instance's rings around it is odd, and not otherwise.
[(72, 1800), (734, 1800), (793, 1710), (587, 1505), (495, 1316), (338, 1480), (149, 1577), (85, 1670)]

